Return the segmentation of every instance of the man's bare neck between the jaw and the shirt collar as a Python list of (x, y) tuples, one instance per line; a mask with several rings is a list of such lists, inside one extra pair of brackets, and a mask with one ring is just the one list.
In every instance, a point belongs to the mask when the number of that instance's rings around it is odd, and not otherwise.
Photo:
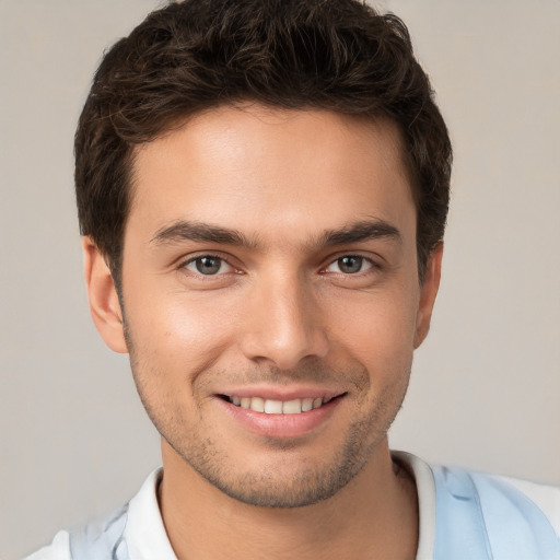
[(179, 560), (410, 559), (418, 545), (413, 480), (395, 468), (386, 440), (362, 471), (328, 500), (258, 508), (206, 481), (165, 442), (160, 508)]

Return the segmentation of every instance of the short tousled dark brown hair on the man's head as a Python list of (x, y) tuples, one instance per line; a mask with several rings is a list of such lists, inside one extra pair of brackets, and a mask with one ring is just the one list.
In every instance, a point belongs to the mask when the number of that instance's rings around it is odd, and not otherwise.
[(185, 0), (149, 14), (105, 55), (75, 133), (80, 230), (117, 288), (135, 145), (242, 101), (396, 122), (422, 279), (443, 237), (452, 149), (402, 21), (357, 0)]

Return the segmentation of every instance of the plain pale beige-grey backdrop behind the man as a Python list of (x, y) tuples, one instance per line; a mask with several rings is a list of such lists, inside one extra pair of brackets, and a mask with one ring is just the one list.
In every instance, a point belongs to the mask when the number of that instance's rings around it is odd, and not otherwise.
[[(455, 149), (443, 283), (392, 446), (560, 485), (560, 2), (386, 0)], [(152, 0), (0, 0), (0, 558), (128, 500), (159, 438), (89, 317), (72, 140)], [(374, 341), (372, 341), (374, 343)]]

